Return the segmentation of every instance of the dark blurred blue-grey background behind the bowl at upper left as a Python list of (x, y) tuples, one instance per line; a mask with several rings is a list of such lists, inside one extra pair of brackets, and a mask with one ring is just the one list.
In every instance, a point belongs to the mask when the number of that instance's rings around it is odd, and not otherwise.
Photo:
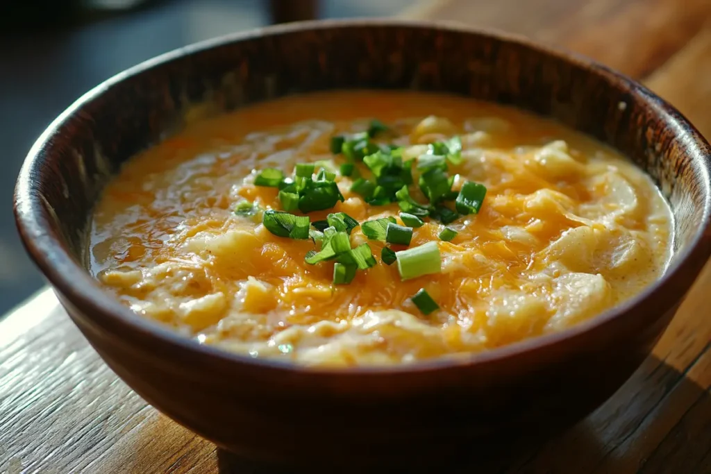
[[(12, 217), (17, 173), (43, 129), (80, 95), (142, 60), (290, 19), (294, 11), (317, 18), (392, 16), (413, 3), (321, 0), (314, 9), (306, 0), (7, 0), (0, 6), (0, 317), (43, 285)], [(133, 5), (107, 8), (121, 4)]]

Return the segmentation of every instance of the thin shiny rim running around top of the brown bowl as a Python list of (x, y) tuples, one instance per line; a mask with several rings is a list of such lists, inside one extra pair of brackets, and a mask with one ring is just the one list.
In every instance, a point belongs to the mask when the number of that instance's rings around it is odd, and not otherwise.
[[(41, 200), (43, 197), (38, 194), (36, 187), (33, 186), (33, 181), (41, 173), (41, 158), (42, 151), (50, 146), (51, 137), (65, 124), (65, 121), (71, 117), (77, 110), (82, 107), (82, 104), (89, 102), (92, 98), (101, 95), (109, 90), (113, 85), (125, 80), (127, 77), (139, 75), (146, 70), (159, 67), (171, 60), (181, 58), (184, 55), (200, 53), (204, 50), (209, 50), (220, 45), (243, 41), (249, 38), (260, 36), (272, 36), (283, 33), (292, 33), (295, 31), (321, 30), (328, 28), (351, 28), (351, 27), (409, 27), (422, 28), (427, 31), (458, 31), (461, 33), (474, 33), (480, 36), (489, 36), (496, 38), (499, 41), (513, 43), (523, 46), (528, 49), (538, 50), (546, 55), (550, 55), (568, 63), (573, 63), (587, 72), (594, 75), (603, 76), (608, 80), (618, 82), (621, 87), (625, 87), (634, 91), (636, 95), (643, 97), (647, 106), (653, 109), (661, 116), (668, 119), (676, 125), (675, 133), (678, 136), (683, 136), (694, 144), (698, 149), (709, 149), (709, 145), (695, 127), (683, 117), (678, 110), (665, 102), (663, 99), (655, 95), (650, 90), (638, 84), (634, 80), (619, 72), (615, 72), (601, 65), (594, 60), (585, 58), (576, 53), (570, 53), (558, 48), (552, 48), (547, 45), (541, 45), (530, 41), (528, 38), (501, 31), (493, 31), (482, 28), (471, 28), (459, 23), (448, 21), (412, 21), (406, 19), (393, 18), (368, 18), (357, 20), (328, 20), (328, 21), (302, 21), (297, 23), (289, 23), (285, 25), (269, 26), (265, 28), (257, 28), (251, 31), (232, 33), (218, 38), (212, 38), (207, 41), (194, 43), (183, 48), (164, 53), (149, 60), (139, 63), (138, 65), (119, 72), (119, 74), (110, 77), (105, 82), (97, 85), (89, 92), (86, 92), (82, 97), (77, 99), (73, 104), (65, 109), (41, 134), (35, 144), (29, 151), (26, 160), (23, 163), (21, 172), (18, 176), (18, 181), (14, 196), (14, 212), (16, 225), (18, 227), (23, 245), (33, 261), (38, 265), (43, 274), (46, 276), (50, 284), (62, 295), (66, 296), (68, 301), (80, 308), (87, 309), (85, 313), (90, 312), (92, 319), (103, 319), (111, 323), (113, 328), (122, 328), (141, 333), (149, 338), (158, 338), (163, 343), (172, 345), (173, 348), (186, 350), (194, 355), (203, 355), (213, 357), (215, 360), (230, 363), (235, 365), (252, 365), (262, 367), (267, 370), (276, 370), (292, 373), (309, 373), (311, 375), (321, 374), (329, 375), (363, 375), (363, 376), (387, 376), (395, 373), (407, 372), (423, 372), (432, 370), (442, 370), (450, 367), (461, 367), (463, 365), (481, 365), (487, 362), (495, 362), (508, 357), (516, 357), (524, 355), (526, 352), (533, 352), (543, 348), (549, 348), (552, 345), (562, 343), (562, 341), (570, 340), (578, 335), (587, 333), (588, 331), (598, 328), (615, 318), (619, 318), (624, 313), (641, 309), (643, 301), (646, 300), (652, 293), (660, 289), (668, 289), (673, 292), (675, 301), (680, 300), (685, 291), (688, 291), (688, 285), (684, 288), (670, 288), (670, 281), (683, 274), (686, 267), (691, 261), (702, 259), (705, 262), (710, 254), (708, 242), (702, 242), (705, 239), (711, 239), (711, 189), (710, 179), (707, 168), (701, 167), (702, 176), (699, 177), (703, 182), (702, 190), (704, 193), (704, 209), (703, 219), (697, 225), (697, 231), (691, 239), (690, 244), (680, 252), (675, 262), (671, 264), (665, 271), (665, 274), (655, 281), (653, 284), (644, 289), (641, 293), (621, 303), (618, 306), (610, 308), (587, 321), (578, 323), (577, 325), (567, 328), (557, 333), (540, 335), (535, 338), (529, 338), (510, 345), (505, 345), (501, 348), (486, 350), (483, 352), (473, 353), (469, 356), (456, 358), (442, 357), (434, 360), (425, 360), (421, 362), (412, 362), (402, 365), (393, 366), (363, 366), (363, 367), (314, 367), (309, 365), (299, 365), (294, 362), (282, 361), (277, 359), (249, 357), (240, 355), (234, 352), (228, 352), (209, 345), (202, 345), (196, 340), (187, 338), (183, 335), (164, 328), (159, 323), (154, 323), (146, 318), (142, 318), (133, 313), (126, 306), (123, 306), (119, 301), (109, 293), (103, 291), (97, 281), (90, 274), (77, 264), (70, 254), (63, 248), (60, 239), (53, 235), (50, 230), (50, 222), (46, 218), (46, 210), (43, 210)], [(695, 156), (694, 159), (700, 159), (700, 156)], [(38, 180), (37, 180), (38, 181)]]

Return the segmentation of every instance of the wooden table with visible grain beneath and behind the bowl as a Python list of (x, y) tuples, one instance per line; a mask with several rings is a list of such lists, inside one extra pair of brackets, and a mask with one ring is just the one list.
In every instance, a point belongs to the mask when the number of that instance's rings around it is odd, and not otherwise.
[[(710, 0), (442, 0), (456, 19), (561, 45), (636, 77), (711, 136)], [(711, 473), (711, 266), (653, 355), (542, 447), (462, 473)], [(39, 293), (0, 323), (0, 473), (254, 473), (139, 399)], [(476, 469), (474, 468), (476, 466)]]

